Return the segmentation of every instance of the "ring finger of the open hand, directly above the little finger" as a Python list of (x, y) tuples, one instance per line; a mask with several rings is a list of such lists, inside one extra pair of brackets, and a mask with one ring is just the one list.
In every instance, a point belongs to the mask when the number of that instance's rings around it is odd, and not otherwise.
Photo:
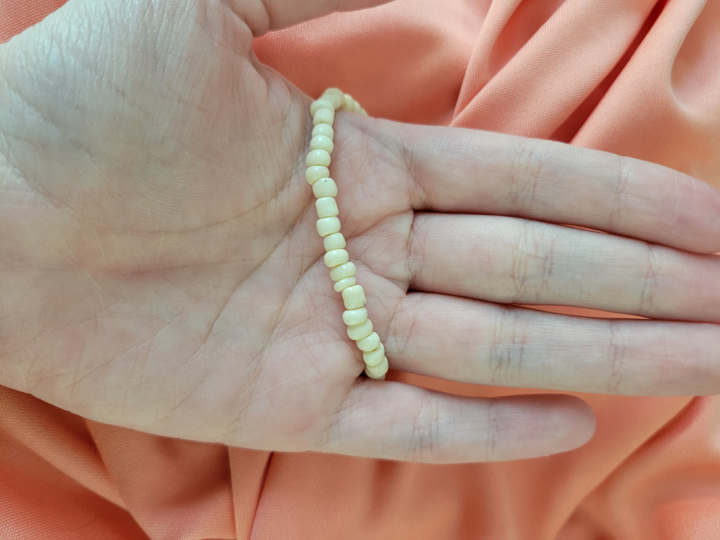
[(558, 315), (408, 294), (387, 329), (395, 369), (495, 386), (621, 395), (720, 392), (720, 325)]

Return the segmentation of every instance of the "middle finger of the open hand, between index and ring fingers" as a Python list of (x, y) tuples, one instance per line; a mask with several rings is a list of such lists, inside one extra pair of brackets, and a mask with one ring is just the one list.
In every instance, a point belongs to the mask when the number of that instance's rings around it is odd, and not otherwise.
[[(417, 213), (410, 288), (720, 321), (720, 257), (513, 217)], [(691, 299), (691, 300), (688, 300)]]

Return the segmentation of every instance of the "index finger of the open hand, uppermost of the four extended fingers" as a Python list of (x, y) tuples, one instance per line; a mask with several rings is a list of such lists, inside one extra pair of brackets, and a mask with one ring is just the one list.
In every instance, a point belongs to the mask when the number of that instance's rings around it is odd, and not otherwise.
[(720, 193), (654, 163), (545, 140), (394, 125), (416, 209), (516, 215), (720, 251)]

